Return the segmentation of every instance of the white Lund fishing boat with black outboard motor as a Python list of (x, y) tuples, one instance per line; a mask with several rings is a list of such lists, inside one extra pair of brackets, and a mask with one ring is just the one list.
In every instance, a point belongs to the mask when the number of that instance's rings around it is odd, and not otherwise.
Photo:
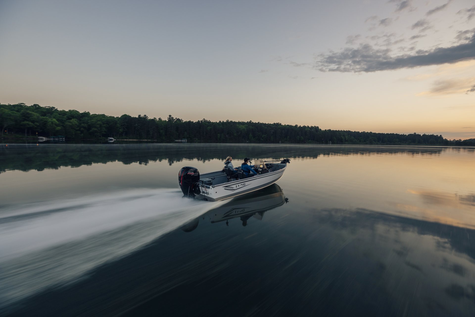
[(185, 166), (178, 173), (184, 197), (216, 202), (236, 197), (276, 183), (284, 175), (289, 159), (254, 160), (255, 175), (240, 171), (232, 174), (226, 167), (220, 171), (200, 174), (196, 167)]

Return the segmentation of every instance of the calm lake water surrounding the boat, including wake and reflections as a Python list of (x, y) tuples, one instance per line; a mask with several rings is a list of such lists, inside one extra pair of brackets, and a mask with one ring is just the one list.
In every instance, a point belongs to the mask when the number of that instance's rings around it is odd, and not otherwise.
[[(181, 198), (228, 155), (291, 163)], [(2, 144), (0, 196), (0, 315), (475, 316), (473, 148)]]

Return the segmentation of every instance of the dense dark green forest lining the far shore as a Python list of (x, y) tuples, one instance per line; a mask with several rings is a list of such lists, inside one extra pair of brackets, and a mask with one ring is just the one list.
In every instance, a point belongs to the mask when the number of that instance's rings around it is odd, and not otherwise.
[(63, 135), (66, 139), (138, 139), (172, 142), (297, 143), (297, 144), (444, 144), (475, 145), (475, 139), (447, 140), (435, 134), (396, 134), (323, 130), (318, 126), (241, 121), (211, 122), (150, 118), (147, 115), (91, 114), (37, 104), (0, 104), (1, 137)]

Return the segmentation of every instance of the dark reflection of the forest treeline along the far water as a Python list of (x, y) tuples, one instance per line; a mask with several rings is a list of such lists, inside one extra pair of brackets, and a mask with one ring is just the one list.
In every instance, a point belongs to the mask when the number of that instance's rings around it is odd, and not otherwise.
[(61, 166), (79, 167), (93, 163), (122, 162), (148, 164), (167, 160), (171, 165), (184, 160), (209, 162), (228, 155), (244, 157), (306, 159), (329, 155), (412, 154), (437, 155), (447, 148), (355, 147), (270, 144), (36, 144), (0, 147), (0, 173), (43, 171)]

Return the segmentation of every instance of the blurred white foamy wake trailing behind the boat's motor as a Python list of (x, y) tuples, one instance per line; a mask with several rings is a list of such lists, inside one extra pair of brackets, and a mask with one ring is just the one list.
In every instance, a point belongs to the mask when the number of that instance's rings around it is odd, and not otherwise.
[(143, 189), (0, 209), (0, 307), (74, 282), (220, 204)]

